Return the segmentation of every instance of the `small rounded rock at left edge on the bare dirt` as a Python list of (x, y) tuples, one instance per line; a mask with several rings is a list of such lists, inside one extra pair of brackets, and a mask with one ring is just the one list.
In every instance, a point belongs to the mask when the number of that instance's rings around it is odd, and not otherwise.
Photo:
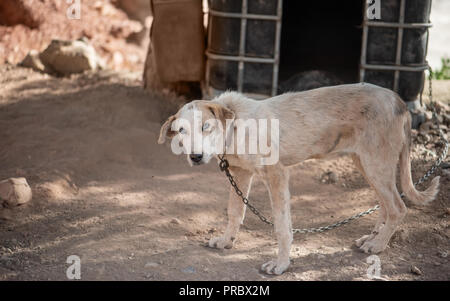
[(18, 206), (31, 200), (31, 188), (25, 178), (0, 181), (0, 201), (7, 206)]

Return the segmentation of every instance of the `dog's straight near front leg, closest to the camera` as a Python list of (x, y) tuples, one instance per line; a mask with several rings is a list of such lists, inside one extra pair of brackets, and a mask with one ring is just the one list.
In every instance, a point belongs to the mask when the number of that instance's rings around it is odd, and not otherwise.
[(268, 274), (281, 275), (290, 264), (292, 245), (292, 224), (290, 211), (289, 172), (279, 166), (267, 167), (264, 171), (265, 184), (272, 202), (275, 233), (278, 241), (278, 257), (262, 265)]

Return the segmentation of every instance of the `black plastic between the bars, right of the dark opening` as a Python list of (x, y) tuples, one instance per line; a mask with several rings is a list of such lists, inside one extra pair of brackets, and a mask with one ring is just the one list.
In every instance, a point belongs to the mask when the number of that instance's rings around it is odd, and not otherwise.
[[(399, 23), (401, 0), (382, 0), (381, 19), (374, 22)], [(406, 0), (404, 23), (428, 23), (431, 0)], [(401, 61), (396, 64), (398, 28), (368, 27), (366, 63), (368, 65), (411, 66), (426, 65), (428, 30), (426, 26), (404, 28), (401, 43)], [(394, 90), (395, 72), (393, 70), (367, 69), (365, 82)], [(397, 91), (405, 101), (414, 101), (423, 89), (424, 71), (399, 71)]]

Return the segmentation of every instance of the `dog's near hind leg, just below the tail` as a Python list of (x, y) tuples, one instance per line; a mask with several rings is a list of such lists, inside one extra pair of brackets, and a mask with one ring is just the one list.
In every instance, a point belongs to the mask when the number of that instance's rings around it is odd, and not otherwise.
[(380, 206), (385, 208), (386, 220), (384, 226), (379, 228), (379, 233), (365, 240), (360, 249), (365, 253), (379, 253), (387, 247), (407, 210), (395, 185), (396, 160), (389, 160), (387, 156), (373, 158), (366, 154), (361, 158), (361, 163), (368, 180), (380, 197)]

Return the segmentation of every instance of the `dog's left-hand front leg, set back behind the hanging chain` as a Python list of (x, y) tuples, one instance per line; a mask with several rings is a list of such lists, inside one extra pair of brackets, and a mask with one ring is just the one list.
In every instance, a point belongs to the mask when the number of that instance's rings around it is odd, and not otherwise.
[[(231, 174), (242, 190), (245, 196), (248, 197), (252, 184), (253, 174), (241, 168), (230, 167)], [(236, 194), (233, 187), (230, 187), (230, 197), (228, 199), (228, 225), (223, 236), (213, 237), (209, 240), (208, 245), (212, 248), (231, 249), (236, 240), (236, 235), (239, 227), (244, 220), (245, 205), (242, 198)]]

